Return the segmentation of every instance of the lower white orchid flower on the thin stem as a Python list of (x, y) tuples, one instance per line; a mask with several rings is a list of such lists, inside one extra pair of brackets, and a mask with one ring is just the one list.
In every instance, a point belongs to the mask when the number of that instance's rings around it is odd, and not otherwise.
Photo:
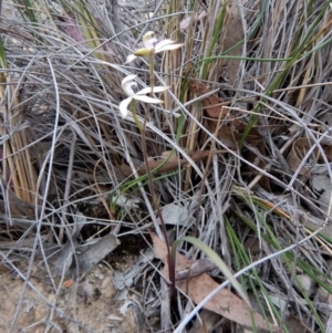
[[(137, 91), (137, 83), (134, 81), (136, 77), (137, 77), (137, 75), (129, 75), (129, 76), (126, 76), (122, 81), (122, 89), (126, 93), (126, 95), (128, 96), (127, 98), (123, 100), (120, 103), (120, 113), (121, 113), (121, 116), (123, 118), (125, 118), (127, 116), (127, 114), (128, 114), (127, 107), (128, 107), (128, 105), (131, 104), (131, 102), (133, 100), (145, 102), (145, 103), (152, 103), (152, 104), (162, 104), (162, 103), (164, 103), (164, 101), (162, 101), (162, 100), (145, 96), (146, 94), (151, 93), (151, 87), (149, 86), (141, 90), (139, 92), (136, 92)], [(167, 91), (168, 89), (169, 89), (169, 86), (154, 86), (153, 92), (154, 93), (162, 93), (162, 92)]]

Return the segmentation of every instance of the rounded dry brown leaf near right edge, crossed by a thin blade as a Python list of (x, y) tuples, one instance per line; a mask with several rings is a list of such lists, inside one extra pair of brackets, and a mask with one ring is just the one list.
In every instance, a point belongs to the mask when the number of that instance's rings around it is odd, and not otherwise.
[[(288, 164), (292, 171), (295, 171), (298, 169), (312, 145), (313, 143), (307, 137), (300, 137), (293, 142), (292, 149), (288, 156)], [(301, 168), (299, 174), (302, 176), (310, 177), (310, 168), (314, 166), (318, 158), (319, 152), (318, 148), (314, 148), (309, 159), (305, 162), (305, 166)]]

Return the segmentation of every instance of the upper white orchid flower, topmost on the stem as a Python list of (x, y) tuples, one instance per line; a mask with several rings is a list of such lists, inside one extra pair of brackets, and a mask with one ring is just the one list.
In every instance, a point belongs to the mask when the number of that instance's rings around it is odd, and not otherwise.
[(156, 34), (153, 31), (148, 31), (143, 37), (144, 48), (135, 51), (128, 55), (125, 64), (132, 62), (137, 56), (147, 56), (154, 53), (160, 53), (165, 51), (172, 51), (181, 48), (184, 44), (175, 44), (173, 40), (163, 40), (158, 42)]

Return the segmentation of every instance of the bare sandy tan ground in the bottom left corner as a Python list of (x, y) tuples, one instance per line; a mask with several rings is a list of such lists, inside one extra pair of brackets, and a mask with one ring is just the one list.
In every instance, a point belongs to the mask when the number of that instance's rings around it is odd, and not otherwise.
[(55, 281), (34, 269), (29, 282), (17, 274), (0, 277), (0, 332), (144, 332), (139, 305), (116, 301), (112, 271), (96, 266), (79, 284)]

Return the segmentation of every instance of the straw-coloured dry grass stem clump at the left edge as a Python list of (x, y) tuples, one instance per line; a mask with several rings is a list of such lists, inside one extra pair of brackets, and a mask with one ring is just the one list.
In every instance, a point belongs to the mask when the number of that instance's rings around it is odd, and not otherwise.
[[(7, 138), (2, 143), (1, 159), (3, 175), (3, 190), (13, 191), (15, 197), (27, 204), (38, 205), (39, 190), (37, 189), (38, 175), (33, 164), (33, 157), (28, 148), (33, 135), (33, 129), (25, 123), (24, 111), (19, 102), (19, 86), (14, 85), (12, 74), (2, 75), (0, 87), (1, 100), (1, 137)], [(15, 215), (17, 208), (11, 207)], [(25, 211), (31, 215), (33, 210)]]

